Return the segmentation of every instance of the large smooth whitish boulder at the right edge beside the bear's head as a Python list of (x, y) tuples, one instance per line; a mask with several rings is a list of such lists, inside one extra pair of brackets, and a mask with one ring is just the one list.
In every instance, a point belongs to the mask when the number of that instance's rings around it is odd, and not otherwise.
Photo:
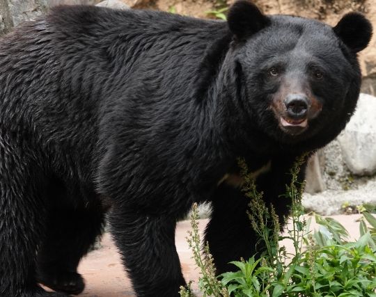
[(347, 168), (354, 175), (376, 172), (376, 97), (361, 94), (357, 111), (338, 142)]

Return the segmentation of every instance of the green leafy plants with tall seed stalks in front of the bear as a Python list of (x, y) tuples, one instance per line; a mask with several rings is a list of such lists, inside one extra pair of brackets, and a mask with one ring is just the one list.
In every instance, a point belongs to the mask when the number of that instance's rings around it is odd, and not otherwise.
[[(235, 297), (376, 297), (376, 218), (375, 207), (363, 205), (359, 224), (360, 238), (350, 242), (345, 227), (333, 218), (315, 214), (319, 229), (311, 232), (312, 217), (306, 220), (301, 197), (304, 184), (297, 175), (305, 156), (297, 159), (291, 169), (291, 182), (285, 198), (291, 202), (287, 235), (280, 235), (279, 218), (272, 205), (263, 202), (263, 193), (256, 191), (244, 160), (239, 160), (244, 193), (250, 199), (250, 225), (263, 241), (265, 252), (255, 259), (231, 262), (236, 272), (215, 276), (209, 246), (201, 250), (198, 233), (197, 206), (191, 212), (191, 227), (187, 238), (194, 260), (201, 269), (198, 287), (204, 296)], [(294, 252), (289, 254), (281, 239), (291, 240)], [(191, 290), (181, 288), (180, 296), (191, 296)]]

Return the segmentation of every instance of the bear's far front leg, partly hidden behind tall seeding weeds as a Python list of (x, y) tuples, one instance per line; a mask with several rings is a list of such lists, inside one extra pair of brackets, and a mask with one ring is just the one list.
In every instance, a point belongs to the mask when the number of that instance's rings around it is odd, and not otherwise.
[[(259, 192), (263, 192), (265, 205), (274, 205), (282, 225), (291, 204), (283, 194), (286, 185), (291, 182), (290, 169), (296, 158), (295, 155), (274, 156), (269, 160), (267, 170), (262, 170), (256, 178), (256, 187)], [(304, 180), (305, 166), (304, 164), (299, 172), (298, 182)], [(263, 241), (251, 227), (246, 211), (255, 210), (249, 209), (248, 204), (249, 198), (242, 192), (241, 182), (225, 180), (214, 192), (212, 215), (205, 230), (205, 241), (209, 243), (217, 274), (236, 271), (238, 268), (228, 262), (239, 261), (240, 258), (249, 259), (253, 255), (259, 257), (265, 250)]]

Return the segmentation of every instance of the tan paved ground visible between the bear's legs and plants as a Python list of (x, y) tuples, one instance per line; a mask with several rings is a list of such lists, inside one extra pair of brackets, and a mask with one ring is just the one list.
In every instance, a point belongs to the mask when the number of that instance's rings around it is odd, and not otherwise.
[[(359, 236), (359, 223), (356, 220), (359, 215), (352, 216), (332, 216), (339, 220), (353, 238)], [(203, 230), (207, 220), (200, 220), (200, 229)], [(198, 270), (191, 259), (191, 252), (188, 248), (185, 237), (189, 230), (189, 221), (183, 221), (178, 224), (176, 232), (176, 248), (180, 256), (182, 270), (186, 280), (198, 280)], [(315, 224), (312, 225), (315, 227)], [(134, 296), (130, 280), (126, 277), (123, 266), (120, 263), (120, 257), (113, 246), (109, 234), (105, 234), (102, 240), (100, 250), (91, 252), (82, 260), (79, 266), (79, 272), (84, 275), (86, 280), (86, 289), (79, 296), (86, 297), (130, 297)], [(292, 245), (285, 242), (286, 248), (291, 250)], [(152, 273), (152, 271), (150, 271)], [(157, 297), (157, 296), (156, 296)]]

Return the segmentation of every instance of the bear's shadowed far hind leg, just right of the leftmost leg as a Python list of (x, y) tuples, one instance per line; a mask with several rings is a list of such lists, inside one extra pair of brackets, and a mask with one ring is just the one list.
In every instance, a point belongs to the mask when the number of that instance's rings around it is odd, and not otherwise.
[(84, 291), (77, 266), (102, 233), (103, 223), (104, 211), (99, 202), (85, 207), (54, 205), (49, 211), (47, 236), (38, 252), (38, 281), (67, 294)]

